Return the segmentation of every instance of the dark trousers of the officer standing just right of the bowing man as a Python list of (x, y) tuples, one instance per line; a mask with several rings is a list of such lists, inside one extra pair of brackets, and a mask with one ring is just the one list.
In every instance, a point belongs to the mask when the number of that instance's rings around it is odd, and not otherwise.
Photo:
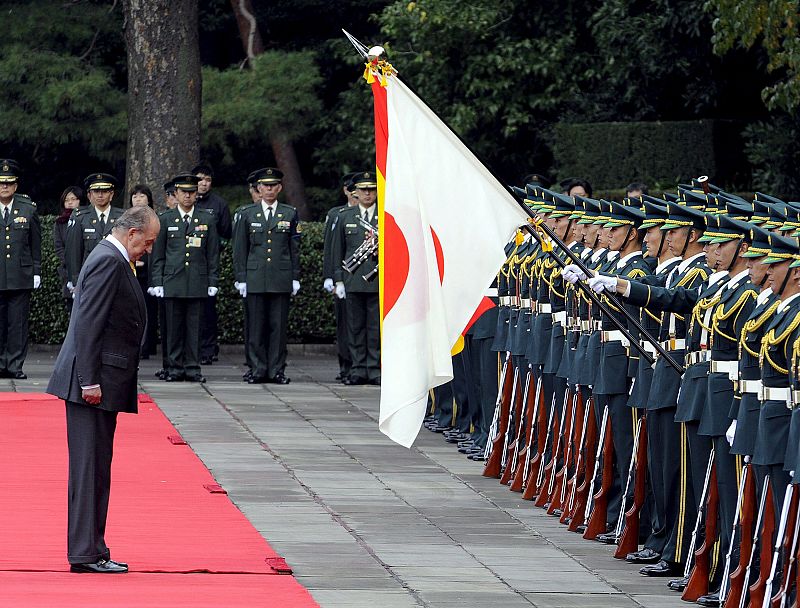
[(200, 375), (200, 316), (205, 298), (165, 298), (167, 372)]

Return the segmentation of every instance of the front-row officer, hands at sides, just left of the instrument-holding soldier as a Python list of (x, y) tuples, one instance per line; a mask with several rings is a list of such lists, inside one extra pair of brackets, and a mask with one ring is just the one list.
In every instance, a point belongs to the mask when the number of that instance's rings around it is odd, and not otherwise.
[(261, 200), (239, 210), (233, 229), (234, 273), (247, 307), (250, 384), (290, 382), (284, 369), (289, 297), (300, 290), (300, 230), (297, 210), (277, 202), (282, 180), (273, 167), (255, 171)]

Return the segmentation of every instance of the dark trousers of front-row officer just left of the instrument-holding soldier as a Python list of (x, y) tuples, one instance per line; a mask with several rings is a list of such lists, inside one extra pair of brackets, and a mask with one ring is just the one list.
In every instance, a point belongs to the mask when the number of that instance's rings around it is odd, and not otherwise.
[(248, 293), (247, 349), (254, 378), (274, 378), (286, 367), (288, 293)]

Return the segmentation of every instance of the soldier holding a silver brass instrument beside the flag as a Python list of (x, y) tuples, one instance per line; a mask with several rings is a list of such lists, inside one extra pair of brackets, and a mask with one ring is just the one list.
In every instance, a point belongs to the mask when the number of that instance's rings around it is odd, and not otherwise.
[[(334, 235), (336, 295), (347, 297), (347, 331), (353, 361), (348, 385), (380, 384), (380, 310), (377, 277), (378, 182), (369, 171), (353, 178), (358, 205), (339, 213)], [(363, 252), (364, 255), (360, 255)], [(352, 272), (342, 264), (352, 264)]]

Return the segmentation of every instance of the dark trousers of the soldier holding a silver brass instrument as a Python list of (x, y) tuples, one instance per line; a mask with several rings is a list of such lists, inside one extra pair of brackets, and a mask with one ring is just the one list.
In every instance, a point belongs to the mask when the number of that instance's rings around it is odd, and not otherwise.
[[(249, 296), (248, 296), (249, 297)], [(377, 293), (348, 292), (347, 330), (354, 378), (380, 378), (380, 309)]]

